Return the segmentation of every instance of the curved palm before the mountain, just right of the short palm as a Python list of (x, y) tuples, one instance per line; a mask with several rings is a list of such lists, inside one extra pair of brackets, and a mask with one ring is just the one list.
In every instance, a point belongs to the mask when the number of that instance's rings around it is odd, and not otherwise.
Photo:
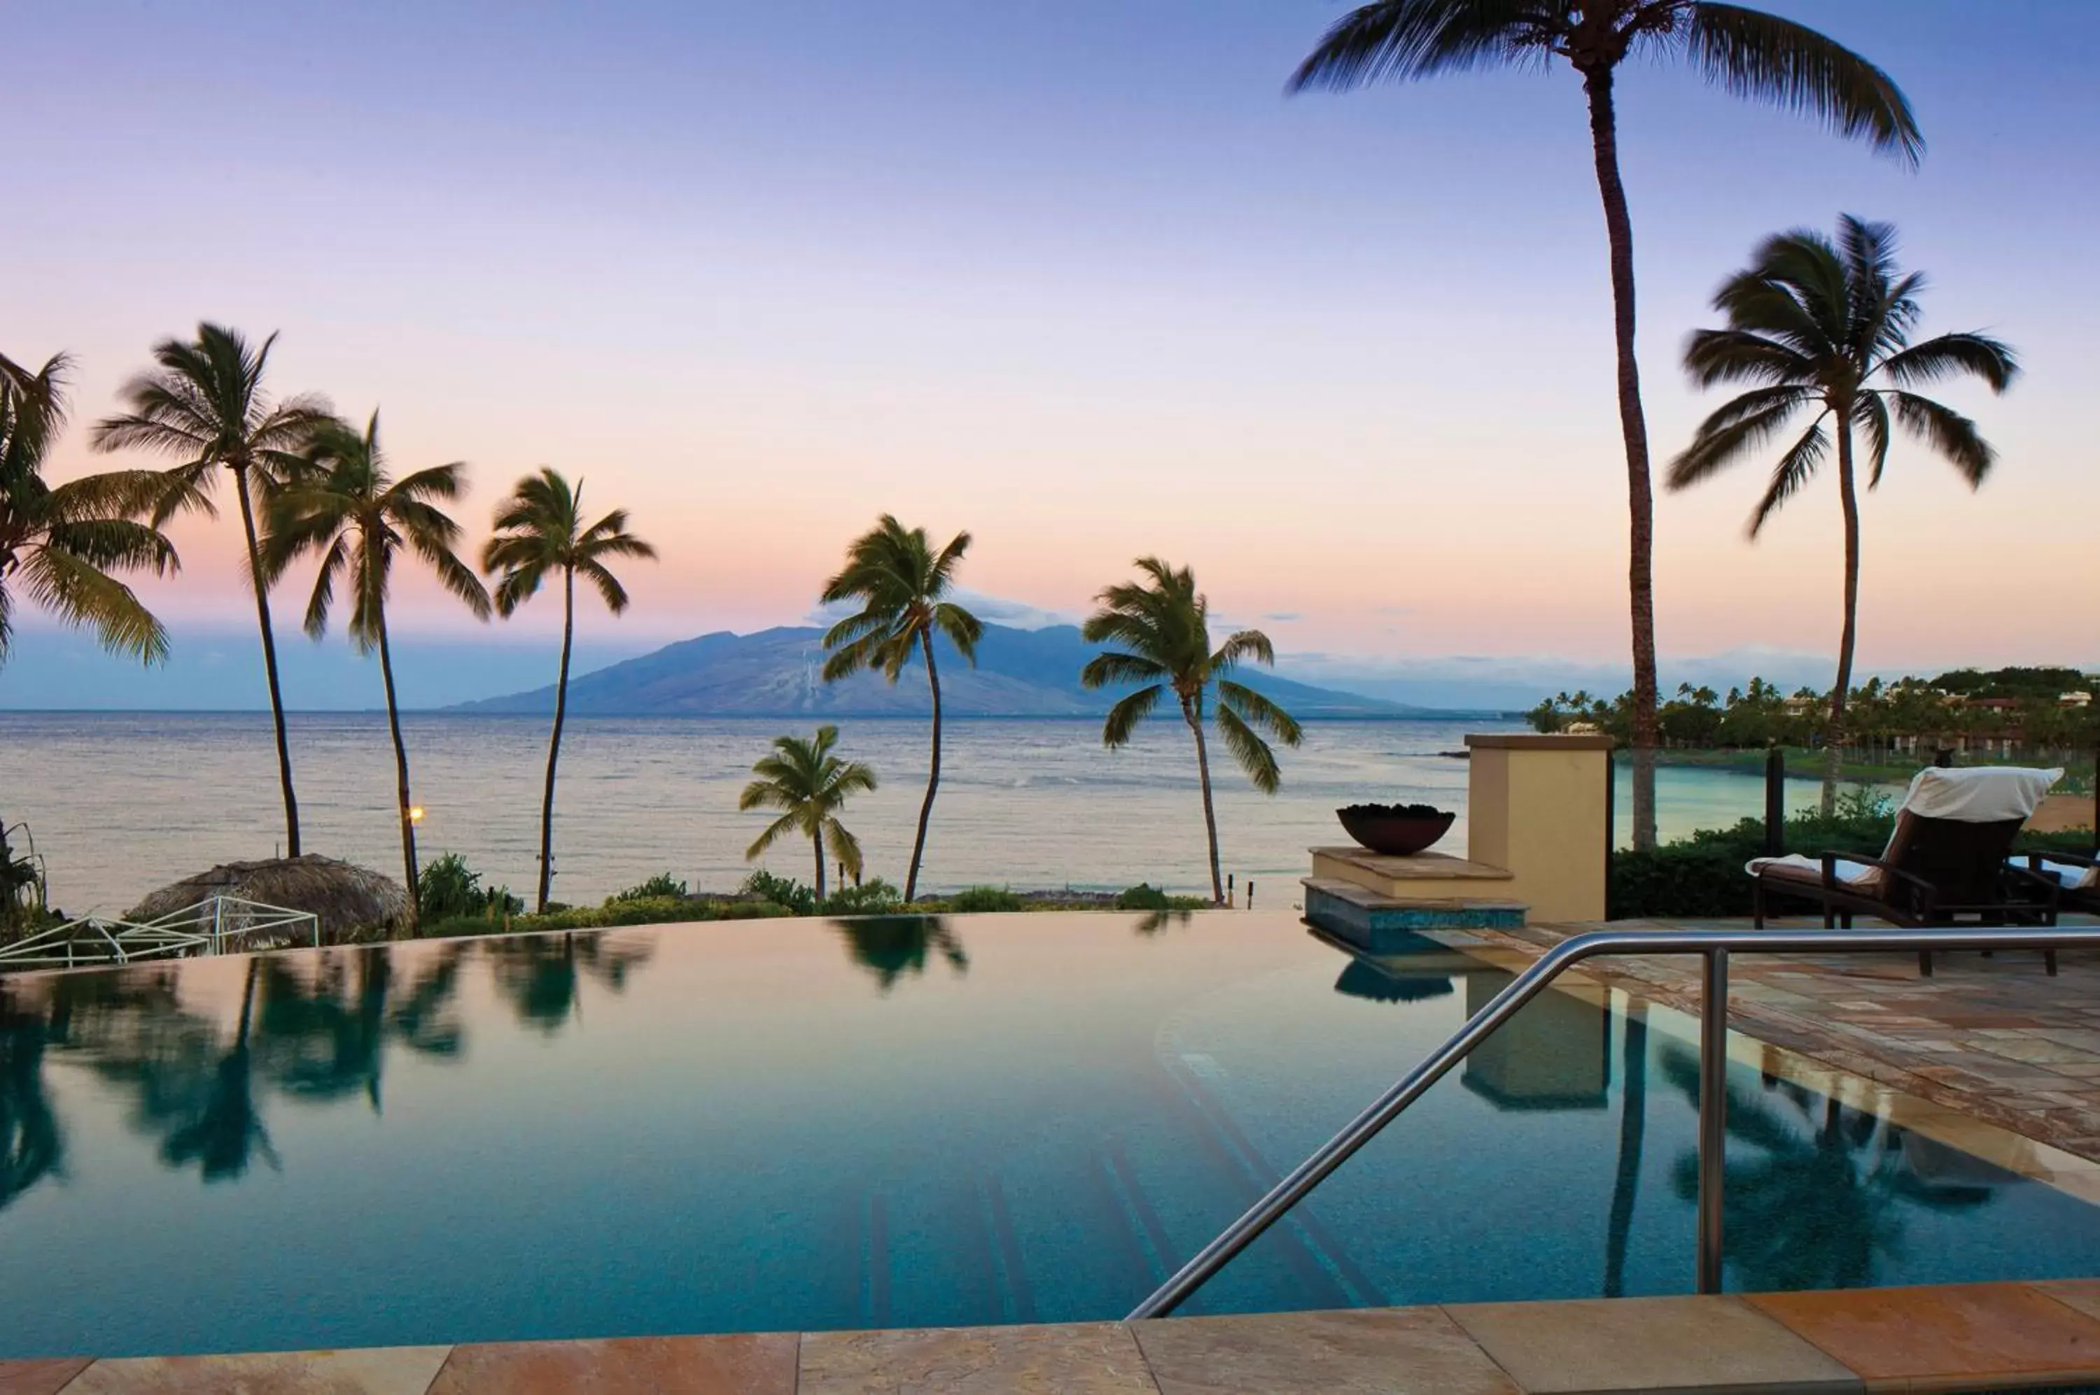
[(838, 682), (861, 669), (882, 669), (892, 684), (918, 650), (926, 659), (926, 688), (932, 692), (932, 759), (926, 768), (926, 799), (920, 803), (918, 835), (911, 839), (911, 866), (905, 871), (905, 900), (918, 898), (918, 871), (926, 858), (926, 822), (932, 818), (932, 797), (941, 789), (941, 669), (932, 659), (932, 634), (949, 638), (970, 665), (976, 665), (976, 640), (985, 627), (974, 615), (943, 600), (956, 585), (956, 566), (970, 550), (970, 535), (958, 533), (941, 552), (926, 541), (926, 529), (905, 531), (890, 514), (846, 548), (846, 566), (823, 583), (823, 600), (857, 600), (850, 615), (823, 636), (832, 650), (823, 661), (823, 680)]

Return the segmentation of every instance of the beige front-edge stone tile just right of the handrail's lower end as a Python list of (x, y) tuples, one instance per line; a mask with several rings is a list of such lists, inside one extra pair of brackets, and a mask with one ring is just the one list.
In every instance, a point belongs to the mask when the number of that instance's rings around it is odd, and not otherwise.
[(1443, 1309), (1132, 1324), (1161, 1395), (1518, 1395)]

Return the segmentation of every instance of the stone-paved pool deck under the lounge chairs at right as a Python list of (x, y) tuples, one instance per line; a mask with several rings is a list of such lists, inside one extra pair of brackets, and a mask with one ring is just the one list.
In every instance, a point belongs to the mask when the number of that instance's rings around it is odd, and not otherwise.
[[(2085, 923), (2090, 917), (2066, 923)], [(1789, 921), (1791, 923), (1791, 921)], [(1802, 921), (1806, 923), (1806, 921)], [(1613, 921), (1613, 929), (1728, 927), (1743, 921)], [(1432, 938), (1502, 967), (1598, 925)], [(1623, 988), (1699, 1011), (1695, 957), (1588, 961), (1567, 980)], [(1728, 1024), (1768, 1074), (1875, 1108), (1964, 1152), (2100, 1202), (2100, 952), (2060, 957), (2050, 978), (2031, 950), (1984, 959), (1915, 954), (1735, 954)], [(1858, 1087), (1880, 1087), (1871, 1101)], [(2031, 1141), (2020, 1145), (2006, 1135)]]

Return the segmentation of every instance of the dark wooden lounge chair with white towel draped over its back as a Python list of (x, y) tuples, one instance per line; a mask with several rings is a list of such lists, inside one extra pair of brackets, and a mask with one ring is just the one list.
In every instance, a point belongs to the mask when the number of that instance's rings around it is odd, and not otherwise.
[[(1766, 898), (1823, 906), (1825, 925), (1871, 915), (1917, 929), (1928, 925), (2054, 925), (2062, 883), (2010, 860), (2012, 839), (2062, 770), (1976, 766), (1919, 770), (1896, 810), (1880, 858), (1825, 852), (1816, 858), (1754, 858), (1751, 908), (1764, 929)], [(2056, 973), (2056, 952), (2043, 963)], [(1919, 950), (1932, 973), (1932, 950)]]

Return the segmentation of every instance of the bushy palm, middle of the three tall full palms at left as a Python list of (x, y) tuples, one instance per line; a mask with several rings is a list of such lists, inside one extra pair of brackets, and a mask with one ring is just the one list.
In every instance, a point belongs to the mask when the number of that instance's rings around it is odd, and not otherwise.
[(275, 579), (292, 558), (315, 552), (321, 556), (307, 602), (307, 634), (319, 640), (328, 634), (328, 610), (336, 583), (351, 585), (351, 638), (357, 650), (380, 654), (380, 680), (386, 686), (386, 730), (395, 743), (395, 795), (401, 816), (401, 868), (407, 877), (410, 927), (416, 913), (416, 820), (407, 797), (407, 747), (401, 745), (401, 703), (395, 696), (393, 650), (386, 642), (386, 592), (393, 581), (395, 556), (407, 548), (437, 573), (447, 592), (466, 602), (477, 619), (489, 617), (489, 594), (454, 545), (456, 524), (437, 503), (458, 499), (464, 491), (464, 462), (430, 466), (416, 474), (393, 478), (380, 453), (380, 413), (372, 413), (363, 432), (349, 422), (328, 422), (313, 430), (298, 482), (286, 485), (269, 501), (269, 537), (262, 552), (262, 579)]

